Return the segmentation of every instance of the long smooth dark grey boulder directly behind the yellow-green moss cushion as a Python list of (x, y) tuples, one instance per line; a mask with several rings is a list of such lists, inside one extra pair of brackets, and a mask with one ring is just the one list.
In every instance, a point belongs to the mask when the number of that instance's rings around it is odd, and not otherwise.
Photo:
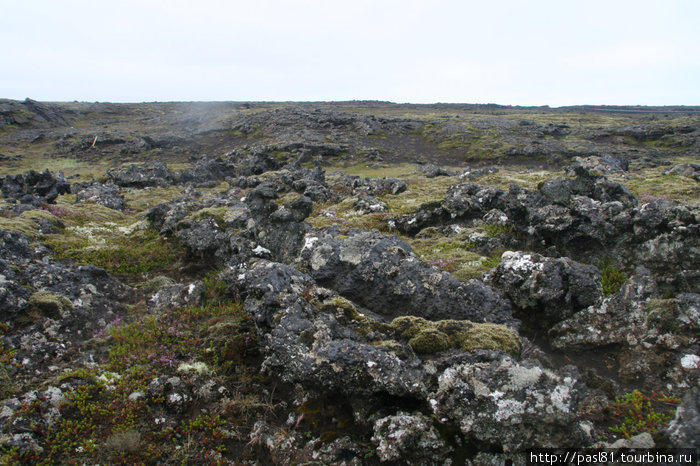
[(495, 290), (422, 262), (395, 236), (309, 234), (300, 266), (320, 285), (385, 317), (415, 315), (517, 326), (510, 305)]

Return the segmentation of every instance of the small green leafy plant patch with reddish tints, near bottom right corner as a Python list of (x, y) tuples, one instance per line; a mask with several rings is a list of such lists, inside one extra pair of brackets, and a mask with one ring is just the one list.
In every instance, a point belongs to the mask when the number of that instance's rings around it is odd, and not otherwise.
[[(676, 397), (664, 393), (654, 393), (651, 397), (634, 390), (608, 406), (612, 415), (622, 422), (610, 427), (610, 432), (632, 438), (643, 432), (654, 432), (666, 427), (676, 413), (675, 406), (680, 402)], [(665, 410), (664, 410), (665, 409)]]

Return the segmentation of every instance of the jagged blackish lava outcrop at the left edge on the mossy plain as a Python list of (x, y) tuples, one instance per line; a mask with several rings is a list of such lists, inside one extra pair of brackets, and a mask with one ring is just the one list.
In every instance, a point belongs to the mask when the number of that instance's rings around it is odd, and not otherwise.
[(42, 202), (53, 204), (59, 195), (71, 192), (70, 183), (63, 173), (54, 176), (48, 170), (41, 173), (29, 170), (21, 175), (0, 177), (0, 190), (5, 197), (35, 207)]

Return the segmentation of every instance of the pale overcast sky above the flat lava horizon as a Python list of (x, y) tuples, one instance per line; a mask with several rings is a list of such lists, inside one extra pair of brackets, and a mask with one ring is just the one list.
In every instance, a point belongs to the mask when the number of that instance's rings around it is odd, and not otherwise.
[(700, 105), (699, 0), (0, 0), (0, 98)]

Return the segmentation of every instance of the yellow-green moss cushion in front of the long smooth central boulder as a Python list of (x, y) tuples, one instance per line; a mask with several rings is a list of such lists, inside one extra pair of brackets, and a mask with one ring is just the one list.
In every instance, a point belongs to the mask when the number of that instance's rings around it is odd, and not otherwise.
[(489, 349), (510, 354), (520, 352), (520, 339), (509, 328), (468, 320), (440, 320), (432, 322), (421, 317), (397, 317), (391, 322), (399, 338), (408, 339), (408, 344), (418, 354), (431, 354), (450, 348), (464, 351)]

